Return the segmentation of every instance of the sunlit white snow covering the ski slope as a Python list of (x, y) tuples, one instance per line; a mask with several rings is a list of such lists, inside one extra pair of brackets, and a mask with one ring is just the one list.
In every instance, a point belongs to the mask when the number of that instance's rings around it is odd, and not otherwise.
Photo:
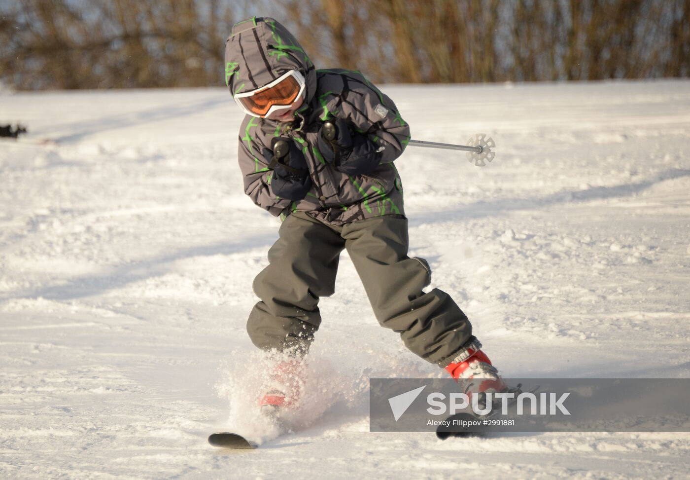
[[(416, 140), (497, 144), (396, 164), (410, 256), (504, 375), (690, 375), (690, 81), (384, 90)], [(0, 477), (687, 478), (687, 433), (368, 432), (368, 378), (442, 372), (377, 325), (346, 253), (313, 410), (274, 438), (245, 322), (278, 222), (242, 192), (228, 93), (3, 92), (0, 117), (29, 128), (0, 143)], [(228, 429), (262, 448), (208, 446)]]

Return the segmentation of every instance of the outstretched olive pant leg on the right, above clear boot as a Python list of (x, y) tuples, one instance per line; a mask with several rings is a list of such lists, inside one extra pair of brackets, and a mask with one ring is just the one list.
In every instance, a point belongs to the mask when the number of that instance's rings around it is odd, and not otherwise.
[(357, 220), (342, 232), (379, 323), (399, 332), (424, 360), (448, 365), (471, 340), (472, 326), (453, 299), (431, 283), (423, 258), (409, 258), (407, 219), (397, 215)]

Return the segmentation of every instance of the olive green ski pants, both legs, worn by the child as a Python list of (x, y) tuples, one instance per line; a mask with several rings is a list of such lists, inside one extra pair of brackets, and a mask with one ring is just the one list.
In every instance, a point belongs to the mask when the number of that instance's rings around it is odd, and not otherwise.
[(407, 218), (383, 215), (334, 226), (295, 211), (280, 226), (269, 265), (253, 283), (261, 298), (247, 322), (254, 345), (308, 351), (321, 323), (319, 298), (335, 291), (343, 249), (380, 325), (400, 333), (413, 353), (445, 367), (474, 339), (467, 316), (449, 294), (422, 291), (431, 283), (431, 269), (423, 258), (407, 256)]

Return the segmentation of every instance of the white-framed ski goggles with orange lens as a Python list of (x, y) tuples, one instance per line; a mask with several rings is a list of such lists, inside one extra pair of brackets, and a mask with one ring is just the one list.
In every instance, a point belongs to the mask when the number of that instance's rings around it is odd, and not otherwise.
[(237, 93), (233, 98), (244, 113), (253, 117), (266, 117), (273, 112), (290, 108), (302, 96), (304, 86), (304, 75), (298, 70), (290, 70), (262, 88)]

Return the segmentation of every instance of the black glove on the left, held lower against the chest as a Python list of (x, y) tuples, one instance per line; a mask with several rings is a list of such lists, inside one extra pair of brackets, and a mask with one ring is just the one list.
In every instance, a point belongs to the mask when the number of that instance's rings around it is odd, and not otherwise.
[(312, 186), (302, 151), (287, 137), (274, 137), (270, 146), (271, 150), (264, 148), (263, 154), (268, 168), (273, 169), (273, 193), (288, 200), (302, 200)]

